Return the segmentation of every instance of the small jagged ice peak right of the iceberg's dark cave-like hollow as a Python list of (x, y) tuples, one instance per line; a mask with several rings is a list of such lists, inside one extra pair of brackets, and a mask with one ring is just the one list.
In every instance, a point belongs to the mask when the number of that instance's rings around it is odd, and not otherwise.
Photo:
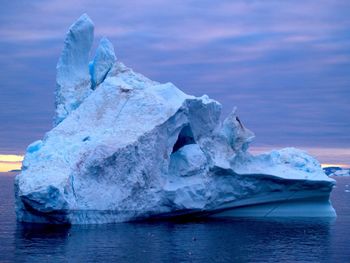
[(237, 107), (226, 117), (223, 124), (223, 133), (231, 146), (238, 151), (246, 151), (249, 143), (254, 139), (254, 133), (245, 128), (236, 114)]

